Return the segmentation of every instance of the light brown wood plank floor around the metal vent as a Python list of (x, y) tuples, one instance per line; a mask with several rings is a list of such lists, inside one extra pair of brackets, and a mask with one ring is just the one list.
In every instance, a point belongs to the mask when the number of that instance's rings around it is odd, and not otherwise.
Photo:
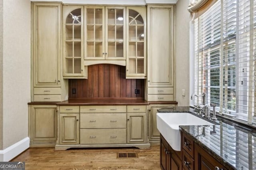
[[(118, 152), (136, 152), (138, 158), (116, 158)], [(159, 146), (138, 148), (29, 148), (12, 161), (25, 162), (26, 170), (160, 170)]]

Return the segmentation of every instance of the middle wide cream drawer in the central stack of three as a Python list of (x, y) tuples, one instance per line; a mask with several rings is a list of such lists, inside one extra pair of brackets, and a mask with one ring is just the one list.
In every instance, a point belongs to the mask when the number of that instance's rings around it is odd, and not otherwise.
[(126, 113), (81, 113), (80, 128), (126, 128)]

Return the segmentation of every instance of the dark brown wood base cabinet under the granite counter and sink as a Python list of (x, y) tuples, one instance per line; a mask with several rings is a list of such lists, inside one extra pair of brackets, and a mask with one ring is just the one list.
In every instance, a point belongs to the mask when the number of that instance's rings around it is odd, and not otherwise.
[(173, 150), (160, 134), (162, 170), (227, 170), (190, 136), (181, 132), (181, 151)]

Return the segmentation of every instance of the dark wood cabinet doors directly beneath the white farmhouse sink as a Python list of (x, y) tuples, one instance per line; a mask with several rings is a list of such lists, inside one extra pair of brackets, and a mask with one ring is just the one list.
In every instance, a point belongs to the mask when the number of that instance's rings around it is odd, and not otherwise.
[(181, 152), (173, 150), (161, 134), (160, 167), (162, 170), (182, 170)]

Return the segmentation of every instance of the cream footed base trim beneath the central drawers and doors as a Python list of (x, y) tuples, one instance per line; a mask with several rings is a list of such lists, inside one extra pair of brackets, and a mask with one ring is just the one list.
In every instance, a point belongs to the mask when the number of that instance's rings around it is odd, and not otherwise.
[(150, 143), (145, 144), (56, 144), (55, 150), (67, 150), (69, 148), (114, 148), (114, 147), (136, 147), (140, 149), (150, 149)]

